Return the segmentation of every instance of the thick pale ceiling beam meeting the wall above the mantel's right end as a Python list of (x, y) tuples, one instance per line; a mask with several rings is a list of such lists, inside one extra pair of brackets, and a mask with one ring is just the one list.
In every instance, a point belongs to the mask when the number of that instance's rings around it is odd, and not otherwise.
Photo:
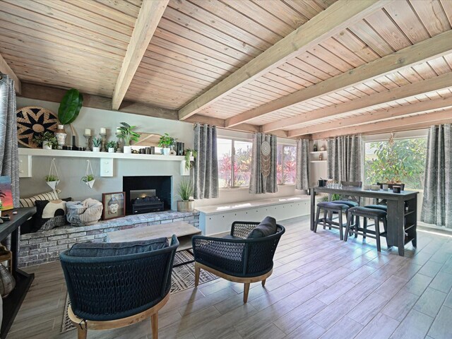
[[(179, 110), (184, 120), (286, 61), (357, 23), (389, 0), (339, 0)], [(245, 122), (245, 121), (243, 121)], [(240, 123), (237, 123), (240, 124)], [(236, 124), (236, 125), (237, 125)]]

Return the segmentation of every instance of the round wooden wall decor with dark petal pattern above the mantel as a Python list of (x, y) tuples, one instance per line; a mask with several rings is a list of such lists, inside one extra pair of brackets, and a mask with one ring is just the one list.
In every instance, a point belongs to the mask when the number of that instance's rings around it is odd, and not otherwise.
[(38, 148), (33, 136), (41, 132), (57, 129), (59, 124), (57, 115), (42, 107), (28, 106), (16, 111), (18, 142), (29, 148)]

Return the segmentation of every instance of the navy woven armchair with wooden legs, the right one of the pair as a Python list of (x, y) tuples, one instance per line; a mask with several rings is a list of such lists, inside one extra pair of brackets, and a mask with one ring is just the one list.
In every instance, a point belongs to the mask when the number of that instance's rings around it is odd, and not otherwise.
[(226, 237), (194, 236), (195, 285), (198, 286), (203, 268), (220, 278), (244, 283), (244, 302), (248, 300), (250, 283), (261, 281), (264, 286), (273, 272), (273, 256), (285, 228), (275, 224), (273, 234), (252, 237), (250, 234), (258, 225), (259, 222), (236, 221)]

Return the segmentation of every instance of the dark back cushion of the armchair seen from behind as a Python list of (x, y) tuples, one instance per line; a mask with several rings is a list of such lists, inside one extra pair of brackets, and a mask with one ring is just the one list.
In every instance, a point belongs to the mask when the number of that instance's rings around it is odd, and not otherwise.
[(169, 246), (167, 238), (140, 240), (137, 242), (81, 242), (74, 244), (67, 252), (67, 255), (93, 258), (124, 256), (164, 249), (167, 246)]

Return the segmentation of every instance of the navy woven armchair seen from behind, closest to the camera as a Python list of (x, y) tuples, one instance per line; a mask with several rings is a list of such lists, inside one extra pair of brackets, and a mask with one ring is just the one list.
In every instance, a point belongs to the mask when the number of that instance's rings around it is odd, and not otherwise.
[(106, 330), (151, 318), (158, 336), (158, 311), (169, 299), (174, 254), (179, 242), (81, 243), (60, 254), (78, 338), (88, 329)]

